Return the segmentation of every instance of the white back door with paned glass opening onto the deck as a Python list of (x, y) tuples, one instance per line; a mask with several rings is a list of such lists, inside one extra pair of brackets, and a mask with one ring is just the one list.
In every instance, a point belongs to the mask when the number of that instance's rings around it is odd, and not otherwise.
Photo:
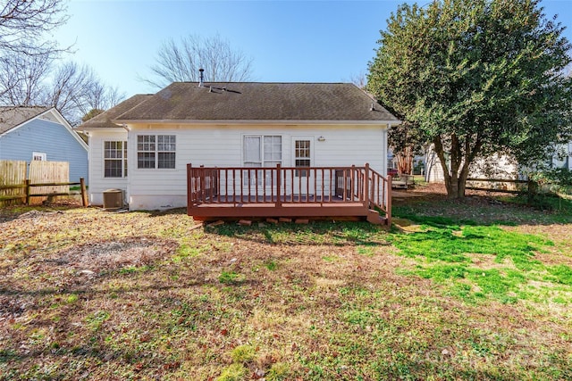
[(300, 168), (293, 171), (292, 189), (294, 195), (299, 195), (300, 201), (305, 201), (315, 191), (315, 173), (307, 169), (314, 164), (314, 137), (292, 137), (291, 142), (291, 166)]

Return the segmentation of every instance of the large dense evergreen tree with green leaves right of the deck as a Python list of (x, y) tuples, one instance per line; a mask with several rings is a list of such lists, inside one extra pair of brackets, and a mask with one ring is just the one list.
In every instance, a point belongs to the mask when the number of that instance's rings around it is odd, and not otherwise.
[(406, 121), (394, 136), (433, 144), (448, 194), (462, 197), (476, 158), (509, 153), (526, 165), (572, 137), (562, 30), (540, 0), (403, 4), (381, 32), (367, 89)]

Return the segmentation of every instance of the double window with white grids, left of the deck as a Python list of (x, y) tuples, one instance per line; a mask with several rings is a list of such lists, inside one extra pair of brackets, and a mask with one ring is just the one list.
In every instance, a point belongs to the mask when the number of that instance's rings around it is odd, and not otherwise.
[(174, 135), (138, 135), (137, 168), (174, 169), (176, 148)]

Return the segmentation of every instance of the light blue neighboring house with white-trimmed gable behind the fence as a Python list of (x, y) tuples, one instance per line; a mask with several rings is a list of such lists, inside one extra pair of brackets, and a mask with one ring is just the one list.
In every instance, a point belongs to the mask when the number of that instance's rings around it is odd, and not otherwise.
[(0, 107), (0, 160), (69, 162), (88, 179), (88, 145), (54, 107)]

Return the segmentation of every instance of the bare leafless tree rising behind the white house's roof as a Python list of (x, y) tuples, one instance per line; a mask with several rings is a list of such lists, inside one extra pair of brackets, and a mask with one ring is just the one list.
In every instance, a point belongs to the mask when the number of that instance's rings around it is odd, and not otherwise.
[(169, 39), (159, 48), (156, 64), (150, 67), (156, 78), (142, 79), (154, 87), (172, 82), (198, 81), (198, 69), (205, 70), (208, 81), (237, 82), (250, 79), (252, 60), (233, 50), (228, 40), (216, 35), (197, 35)]

